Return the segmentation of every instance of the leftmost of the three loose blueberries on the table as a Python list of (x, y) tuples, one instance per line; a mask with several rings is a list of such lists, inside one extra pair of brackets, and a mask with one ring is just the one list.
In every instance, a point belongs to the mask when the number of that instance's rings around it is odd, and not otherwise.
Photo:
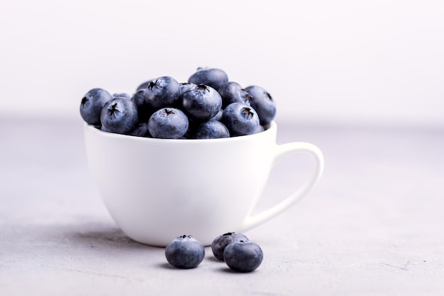
[(204, 260), (205, 248), (191, 235), (182, 235), (165, 246), (165, 257), (174, 267), (194, 268)]

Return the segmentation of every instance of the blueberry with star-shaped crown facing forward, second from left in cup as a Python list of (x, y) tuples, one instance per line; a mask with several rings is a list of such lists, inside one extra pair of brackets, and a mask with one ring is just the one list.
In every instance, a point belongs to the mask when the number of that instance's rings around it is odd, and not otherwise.
[(137, 107), (128, 98), (112, 98), (101, 108), (100, 120), (102, 130), (128, 135), (138, 122)]

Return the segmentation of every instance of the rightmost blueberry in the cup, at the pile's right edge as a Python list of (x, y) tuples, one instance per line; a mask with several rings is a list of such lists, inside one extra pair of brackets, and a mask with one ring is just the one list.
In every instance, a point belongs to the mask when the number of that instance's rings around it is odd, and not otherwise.
[(245, 91), (252, 96), (251, 106), (255, 108), (260, 118), (261, 125), (267, 125), (272, 122), (276, 115), (276, 103), (272, 96), (260, 86), (248, 86)]

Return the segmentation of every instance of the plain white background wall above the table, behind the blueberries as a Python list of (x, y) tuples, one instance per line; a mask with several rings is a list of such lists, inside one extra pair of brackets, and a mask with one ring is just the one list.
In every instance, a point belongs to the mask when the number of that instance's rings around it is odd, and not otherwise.
[(0, 0), (0, 115), (218, 67), (277, 120), (444, 126), (444, 1)]

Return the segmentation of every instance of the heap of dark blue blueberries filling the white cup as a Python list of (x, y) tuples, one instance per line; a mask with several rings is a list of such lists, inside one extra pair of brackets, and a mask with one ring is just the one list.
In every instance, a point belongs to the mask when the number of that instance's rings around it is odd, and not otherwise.
[(140, 84), (135, 93), (91, 89), (80, 115), (106, 132), (165, 139), (215, 139), (251, 135), (269, 127), (276, 105), (261, 86), (245, 89), (226, 72), (197, 68), (187, 82), (171, 76)]

